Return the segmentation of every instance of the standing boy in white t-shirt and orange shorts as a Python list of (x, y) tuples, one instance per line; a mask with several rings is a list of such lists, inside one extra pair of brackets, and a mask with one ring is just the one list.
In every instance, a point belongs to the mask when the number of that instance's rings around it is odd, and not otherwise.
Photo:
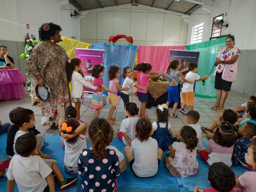
[[(188, 65), (188, 70), (189, 72), (186, 74), (186, 80), (188, 81), (202, 81), (202, 80), (206, 80), (209, 76), (206, 75), (204, 77), (200, 77), (196, 72), (198, 69), (198, 65), (196, 63), (190, 63)], [(182, 97), (182, 106), (179, 109), (180, 112), (182, 112), (183, 114), (186, 115), (186, 112), (184, 110), (184, 108), (187, 106), (189, 106), (190, 110), (193, 110), (194, 108), (194, 83), (190, 84), (190, 83), (184, 83), (183, 87), (181, 89), (181, 97)]]

